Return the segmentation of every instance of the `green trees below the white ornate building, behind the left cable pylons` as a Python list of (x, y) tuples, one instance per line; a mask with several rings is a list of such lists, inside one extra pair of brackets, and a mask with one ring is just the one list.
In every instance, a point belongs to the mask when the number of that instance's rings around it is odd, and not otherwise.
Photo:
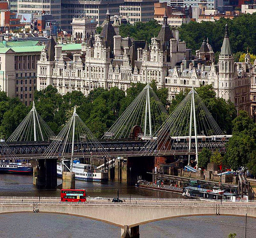
[[(146, 84), (132, 84), (123, 90), (113, 87), (110, 90), (97, 88), (85, 97), (81, 91), (72, 91), (60, 95), (56, 88), (48, 86), (41, 91), (35, 91), (34, 102), (37, 112), (49, 125), (55, 134), (68, 121), (76, 105), (77, 114), (86, 123), (97, 138), (101, 138), (115, 120), (125, 111), (130, 103), (138, 96)], [(168, 91), (157, 89), (155, 82), (151, 87), (155, 90), (161, 102), (166, 105)], [(18, 98), (9, 98), (0, 91), (0, 133), (8, 139), (19, 123), (25, 118), (32, 105), (26, 107)]]

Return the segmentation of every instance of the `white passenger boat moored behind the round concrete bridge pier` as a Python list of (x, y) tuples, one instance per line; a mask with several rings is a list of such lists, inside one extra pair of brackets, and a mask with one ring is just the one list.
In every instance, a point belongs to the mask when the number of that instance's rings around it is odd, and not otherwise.
[[(108, 171), (97, 170), (94, 165), (80, 164), (74, 160), (72, 172), (75, 173), (76, 180), (106, 182), (109, 179)], [(62, 166), (57, 163), (57, 176), (62, 177)]]

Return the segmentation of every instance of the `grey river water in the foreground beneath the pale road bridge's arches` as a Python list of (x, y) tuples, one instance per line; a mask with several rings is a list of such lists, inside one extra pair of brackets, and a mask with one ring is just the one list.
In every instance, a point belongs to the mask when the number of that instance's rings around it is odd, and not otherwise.
[[(82, 217), (31, 212), (2, 214), (0, 219), (0, 237), (120, 237), (120, 228)], [(229, 233), (244, 237), (244, 221), (232, 216), (173, 218), (141, 225), (140, 237), (226, 238)], [(256, 219), (247, 218), (247, 237), (255, 237), (255, 223)], [(31, 228), (34, 224), (36, 229)]]

